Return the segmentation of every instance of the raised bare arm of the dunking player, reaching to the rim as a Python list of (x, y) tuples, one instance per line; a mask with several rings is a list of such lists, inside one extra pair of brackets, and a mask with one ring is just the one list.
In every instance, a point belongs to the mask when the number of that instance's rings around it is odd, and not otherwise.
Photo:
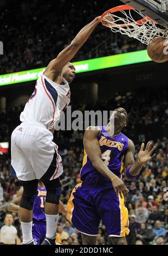
[(94, 31), (94, 29), (100, 22), (101, 21), (99, 16), (96, 17), (89, 24), (87, 24), (83, 29), (81, 29), (81, 31), (72, 40), (71, 44), (69, 44), (65, 49), (63, 49), (63, 51), (58, 54), (57, 58), (55, 58), (49, 63), (48, 67), (44, 72), (44, 75), (49, 77), (49, 79), (53, 80), (55, 75), (62, 73), (63, 67), (66, 66), (67, 63), (72, 60), (74, 55), (86, 42), (92, 31)]

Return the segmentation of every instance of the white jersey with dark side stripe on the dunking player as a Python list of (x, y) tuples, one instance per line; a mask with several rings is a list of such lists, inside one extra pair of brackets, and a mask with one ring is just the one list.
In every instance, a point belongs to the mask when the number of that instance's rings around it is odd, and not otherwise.
[(54, 83), (45, 75), (41, 75), (36, 81), (34, 93), (20, 115), (20, 121), (41, 122), (48, 129), (52, 129), (70, 102), (69, 84), (64, 78), (63, 83)]

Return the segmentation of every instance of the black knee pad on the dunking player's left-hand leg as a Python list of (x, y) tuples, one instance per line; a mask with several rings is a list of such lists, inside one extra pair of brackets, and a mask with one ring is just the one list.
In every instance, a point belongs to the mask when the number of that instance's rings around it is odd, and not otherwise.
[(22, 182), (24, 193), (22, 194), (20, 207), (32, 210), (36, 196), (38, 195), (38, 182)]

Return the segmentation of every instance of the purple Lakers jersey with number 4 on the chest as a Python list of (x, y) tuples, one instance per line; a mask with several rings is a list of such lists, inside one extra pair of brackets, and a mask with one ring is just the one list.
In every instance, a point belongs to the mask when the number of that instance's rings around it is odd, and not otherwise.
[[(110, 136), (104, 126), (99, 134), (99, 145), (101, 149), (101, 159), (109, 167), (109, 170), (122, 179), (123, 158), (125, 151), (128, 149), (128, 138), (122, 132), (118, 135)], [(85, 152), (85, 151), (84, 151)], [(83, 157), (81, 168), (81, 181), (83, 184), (105, 184), (111, 181), (101, 175), (88, 158), (86, 152)]]

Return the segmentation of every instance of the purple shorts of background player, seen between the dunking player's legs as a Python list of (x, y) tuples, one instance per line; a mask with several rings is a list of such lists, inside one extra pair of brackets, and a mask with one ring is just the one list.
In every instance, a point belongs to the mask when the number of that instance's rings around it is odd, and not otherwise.
[(32, 237), (36, 239), (37, 244), (41, 244), (46, 235), (46, 223), (45, 222), (33, 222), (32, 223)]

